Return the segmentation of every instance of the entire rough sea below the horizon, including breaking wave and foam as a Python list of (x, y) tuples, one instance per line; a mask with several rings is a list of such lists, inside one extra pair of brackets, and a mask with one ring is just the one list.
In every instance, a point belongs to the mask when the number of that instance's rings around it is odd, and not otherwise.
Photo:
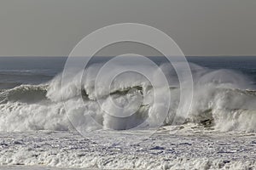
[[(148, 71), (158, 86), (131, 71), (117, 75), (108, 89), (108, 76), (131, 66), (112, 65), (98, 78), (109, 59), (95, 57), (82, 74), (62, 82), (65, 57), (0, 57), (3, 169), (255, 167), (256, 57), (187, 57), (193, 89), (180, 88), (186, 78), (178, 80), (164, 57), (149, 58), (156, 71), (133, 65)], [(159, 71), (167, 87), (161, 86)], [(181, 91), (192, 94), (191, 103), (189, 98), (179, 103)], [(155, 137), (134, 144), (137, 136), (159, 127)]]

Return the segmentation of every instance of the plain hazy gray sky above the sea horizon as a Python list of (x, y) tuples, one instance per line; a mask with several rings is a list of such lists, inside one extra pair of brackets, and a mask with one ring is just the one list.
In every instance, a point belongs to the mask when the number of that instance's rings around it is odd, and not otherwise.
[(65, 56), (123, 22), (165, 31), (185, 55), (256, 55), (255, 0), (1, 0), (0, 56)]

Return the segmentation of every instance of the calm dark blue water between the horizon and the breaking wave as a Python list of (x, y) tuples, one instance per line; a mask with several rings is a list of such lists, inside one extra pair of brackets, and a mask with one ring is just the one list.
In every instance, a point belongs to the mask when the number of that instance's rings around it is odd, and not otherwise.
[[(90, 63), (105, 62), (109, 57), (94, 57)], [(150, 57), (156, 64), (166, 62), (164, 57)], [(187, 57), (196, 65), (211, 69), (239, 71), (256, 82), (256, 57)], [(20, 84), (49, 82), (61, 73), (67, 57), (0, 57), (0, 88)]]

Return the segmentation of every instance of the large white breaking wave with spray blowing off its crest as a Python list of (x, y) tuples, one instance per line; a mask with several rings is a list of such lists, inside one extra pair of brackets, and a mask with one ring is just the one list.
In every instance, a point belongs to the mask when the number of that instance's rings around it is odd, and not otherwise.
[[(210, 70), (190, 64), (194, 79), (194, 90), (191, 91), (180, 89), (172, 65), (163, 64), (160, 70), (166, 76), (168, 88), (153, 88), (142, 75), (126, 72), (113, 80), (110, 89), (104, 86), (105, 80), (102, 79), (95, 90), (96, 75), (101, 66), (90, 65), (84, 71), (82, 81), (79, 77), (81, 73), (77, 77), (69, 77), (63, 88), (59, 75), (46, 85), (2, 89), (0, 131), (73, 130), (70, 120), (76, 123), (76, 127), (87, 130), (124, 130), (137, 127), (142, 122), (154, 127), (163, 118), (161, 112), (167, 105), (166, 95), (171, 92), (171, 102), (168, 104), (171, 107), (162, 125), (195, 122), (221, 131), (256, 132), (256, 91), (251, 81), (238, 72)], [(105, 74), (107, 77), (108, 72)], [(152, 74), (158, 78), (158, 71)], [(188, 95), (193, 93), (189, 111), (177, 111), (180, 90)], [(154, 103), (155, 93), (160, 94), (160, 103)], [(99, 101), (102, 105), (99, 105)], [(113, 107), (113, 103), (119, 105), (119, 109)], [(106, 114), (106, 111), (111, 114)], [(118, 117), (128, 112), (134, 114)], [(86, 116), (94, 121), (84, 118)]]

